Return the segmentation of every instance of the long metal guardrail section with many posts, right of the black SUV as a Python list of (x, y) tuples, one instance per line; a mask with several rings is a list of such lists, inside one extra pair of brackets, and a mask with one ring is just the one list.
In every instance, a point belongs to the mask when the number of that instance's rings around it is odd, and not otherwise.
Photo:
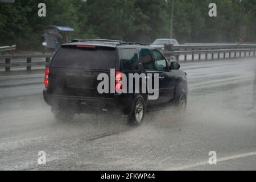
[[(223, 53), (224, 59), (230, 58), (232, 52), (235, 53), (235, 57), (237, 57), (237, 54), (242, 57), (242, 53), (246, 57), (247, 52), (249, 52), (248, 56), (251, 56), (251, 52), (255, 56), (256, 44), (184, 44), (179, 46), (166, 45), (164, 49), (165, 51), (162, 51), (162, 53), (167, 59), (170, 59), (170, 56), (176, 56), (179, 60), (179, 56), (184, 55), (184, 60), (187, 61), (187, 55), (192, 55), (192, 60), (195, 60), (195, 55), (199, 55), (198, 60), (201, 60), (201, 55), (205, 54), (205, 60), (208, 60), (209, 54), (211, 54), (211, 59), (214, 59), (215, 53), (217, 53), (217, 59), (220, 59), (221, 53)], [(228, 53), (228, 56), (226, 56), (226, 53)]]

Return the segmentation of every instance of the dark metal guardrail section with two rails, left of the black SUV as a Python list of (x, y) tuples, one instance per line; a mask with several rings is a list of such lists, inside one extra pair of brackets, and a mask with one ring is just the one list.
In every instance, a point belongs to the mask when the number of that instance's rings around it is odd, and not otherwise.
[[(51, 60), (52, 55), (3, 55), (0, 56), (0, 60), (5, 60), (5, 63), (0, 63), (0, 68), (5, 68), (6, 72), (11, 71), (11, 67), (27, 67), (27, 71), (31, 71), (32, 66), (48, 66)], [(46, 61), (35, 61), (32, 62), (33, 58), (45, 58)], [(11, 63), (11, 59), (26, 59), (26, 63), (18, 62), (18, 63)]]

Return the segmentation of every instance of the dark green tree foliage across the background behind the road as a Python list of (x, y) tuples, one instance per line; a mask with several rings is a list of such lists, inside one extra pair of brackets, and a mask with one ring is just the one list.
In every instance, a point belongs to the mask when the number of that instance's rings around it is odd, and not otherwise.
[[(38, 16), (46, 3), (47, 16)], [(217, 17), (208, 16), (210, 0), (174, 0), (174, 36), (180, 43), (237, 42), (246, 26), (256, 42), (255, 0), (216, 0)], [(0, 46), (40, 47), (50, 24), (75, 29), (72, 38), (152, 42), (170, 36), (171, 0), (16, 0), (0, 3)]]

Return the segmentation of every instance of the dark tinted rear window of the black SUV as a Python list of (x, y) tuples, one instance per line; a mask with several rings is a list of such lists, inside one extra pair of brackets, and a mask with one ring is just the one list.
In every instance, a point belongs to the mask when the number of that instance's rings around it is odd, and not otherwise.
[(115, 48), (61, 46), (51, 67), (108, 70), (115, 68)]

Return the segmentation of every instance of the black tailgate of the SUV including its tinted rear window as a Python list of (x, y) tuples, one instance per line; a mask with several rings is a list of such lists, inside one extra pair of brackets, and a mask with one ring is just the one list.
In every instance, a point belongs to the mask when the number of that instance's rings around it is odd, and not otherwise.
[(51, 94), (78, 97), (113, 97), (97, 92), (97, 76), (115, 69), (113, 47), (64, 45), (56, 52), (50, 65)]

